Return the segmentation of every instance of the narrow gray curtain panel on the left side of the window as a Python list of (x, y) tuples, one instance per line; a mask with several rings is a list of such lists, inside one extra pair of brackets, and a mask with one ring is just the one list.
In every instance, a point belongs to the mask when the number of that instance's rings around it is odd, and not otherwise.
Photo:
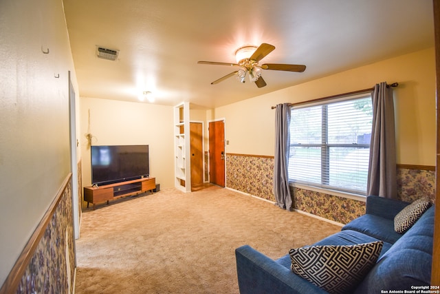
[(289, 189), (289, 176), (287, 175), (290, 145), (289, 124), (289, 103), (276, 105), (274, 194), (278, 207), (292, 211), (293, 201)]

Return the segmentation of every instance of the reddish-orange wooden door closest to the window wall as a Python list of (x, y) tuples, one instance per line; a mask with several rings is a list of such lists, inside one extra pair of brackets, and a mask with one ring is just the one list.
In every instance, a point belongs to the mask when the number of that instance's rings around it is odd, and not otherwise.
[(225, 123), (209, 123), (209, 177), (214, 185), (225, 187)]

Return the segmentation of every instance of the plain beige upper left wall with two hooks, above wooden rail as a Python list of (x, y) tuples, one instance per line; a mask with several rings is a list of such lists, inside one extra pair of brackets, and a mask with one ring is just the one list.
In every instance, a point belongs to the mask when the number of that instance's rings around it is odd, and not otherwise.
[(69, 174), (68, 72), (75, 74), (62, 1), (1, 1), (0, 28), (3, 284)]

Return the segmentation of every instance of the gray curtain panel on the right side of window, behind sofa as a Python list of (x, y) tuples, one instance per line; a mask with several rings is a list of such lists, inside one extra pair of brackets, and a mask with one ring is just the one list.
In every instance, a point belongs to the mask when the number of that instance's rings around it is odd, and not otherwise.
[(369, 175), (366, 195), (397, 198), (393, 90), (386, 83), (373, 90)]

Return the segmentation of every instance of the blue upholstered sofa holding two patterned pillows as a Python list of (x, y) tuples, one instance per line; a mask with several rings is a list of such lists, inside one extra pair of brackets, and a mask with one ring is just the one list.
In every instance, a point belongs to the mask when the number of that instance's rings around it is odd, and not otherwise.
[[(431, 277), (434, 206), (403, 234), (394, 230), (394, 217), (409, 203), (377, 196), (366, 199), (366, 214), (342, 227), (338, 233), (314, 245), (353, 245), (382, 240), (380, 256), (354, 293), (382, 290), (413, 290), (428, 286)], [(241, 294), (327, 293), (292, 272), (289, 254), (278, 260), (267, 258), (245, 245), (235, 250)], [(402, 292), (403, 293), (403, 292)]]

